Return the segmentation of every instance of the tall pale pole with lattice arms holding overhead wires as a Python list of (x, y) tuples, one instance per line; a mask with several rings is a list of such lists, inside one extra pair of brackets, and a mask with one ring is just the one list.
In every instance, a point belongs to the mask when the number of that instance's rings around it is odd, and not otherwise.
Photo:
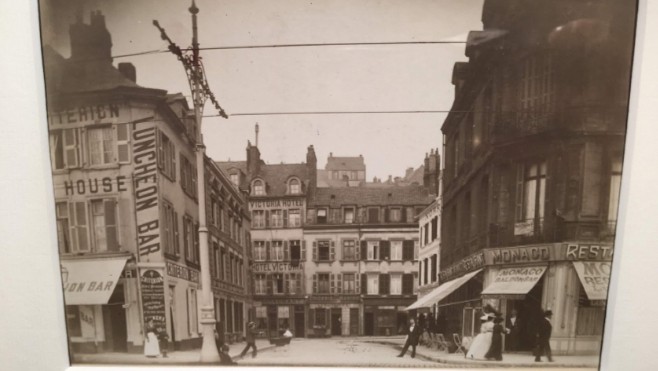
[(169, 42), (169, 51), (175, 54), (183, 63), (187, 82), (190, 84), (192, 91), (192, 100), (194, 104), (194, 117), (197, 124), (196, 132), (196, 168), (197, 168), (197, 197), (199, 204), (199, 255), (201, 263), (201, 333), (203, 343), (201, 345), (201, 354), (199, 361), (201, 363), (219, 362), (219, 353), (215, 345), (215, 310), (212, 300), (210, 261), (208, 251), (208, 228), (206, 226), (206, 177), (204, 168), (204, 159), (206, 156), (206, 147), (203, 144), (203, 135), (201, 134), (201, 119), (203, 116), (203, 107), (208, 99), (214, 104), (219, 111), (219, 115), (228, 118), (224, 110), (219, 106), (215, 96), (210, 91), (208, 81), (203, 70), (203, 65), (199, 58), (199, 39), (197, 30), (197, 14), (199, 8), (196, 7), (194, 0), (189, 8), (192, 14), (192, 50), (183, 52), (167, 36), (165, 30), (160, 27), (158, 21), (153, 21), (153, 25), (160, 30), (160, 37)]

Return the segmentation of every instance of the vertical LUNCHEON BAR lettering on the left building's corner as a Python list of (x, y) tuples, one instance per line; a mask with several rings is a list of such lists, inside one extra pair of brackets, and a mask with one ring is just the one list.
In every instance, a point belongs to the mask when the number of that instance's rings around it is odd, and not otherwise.
[(135, 220), (140, 261), (162, 261), (160, 254), (160, 208), (158, 205), (157, 129), (135, 124), (132, 145), (135, 168)]

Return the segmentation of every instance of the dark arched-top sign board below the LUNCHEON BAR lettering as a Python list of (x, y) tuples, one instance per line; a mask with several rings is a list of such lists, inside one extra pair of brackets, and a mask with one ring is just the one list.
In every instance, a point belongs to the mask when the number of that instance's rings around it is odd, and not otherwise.
[(142, 289), (142, 312), (144, 325), (153, 321), (156, 328), (166, 328), (164, 277), (161, 272), (142, 269), (139, 277)]

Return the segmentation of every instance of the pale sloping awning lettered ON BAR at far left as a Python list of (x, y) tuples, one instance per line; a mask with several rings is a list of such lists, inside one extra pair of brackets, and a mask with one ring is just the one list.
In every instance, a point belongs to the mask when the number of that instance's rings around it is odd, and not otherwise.
[(66, 305), (107, 304), (128, 256), (61, 261)]

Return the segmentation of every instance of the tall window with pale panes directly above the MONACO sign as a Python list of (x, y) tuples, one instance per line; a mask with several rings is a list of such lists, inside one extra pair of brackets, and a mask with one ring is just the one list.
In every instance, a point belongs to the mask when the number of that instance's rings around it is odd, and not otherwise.
[(517, 173), (517, 221), (541, 230), (546, 200), (546, 161), (520, 165)]

